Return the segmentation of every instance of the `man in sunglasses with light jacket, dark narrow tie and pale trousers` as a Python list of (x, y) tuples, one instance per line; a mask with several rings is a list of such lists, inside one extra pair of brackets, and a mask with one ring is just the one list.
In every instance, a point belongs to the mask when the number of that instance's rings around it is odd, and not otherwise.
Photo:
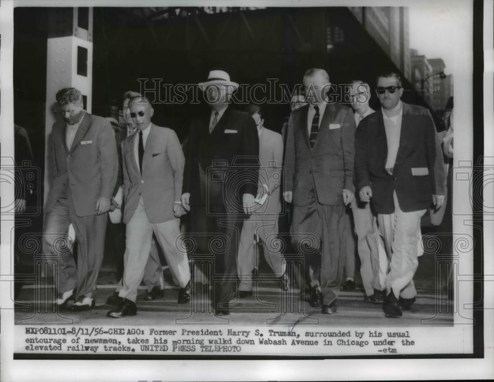
[(179, 242), (179, 218), (185, 213), (180, 202), (184, 154), (173, 130), (151, 123), (154, 110), (147, 98), (132, 98), (129, 109), (137, 131), (122, 142), (126, 239), (119, 297), (123, 301), (107, 313), (112, 318), (137, 314), (137, 288), (149, 258), (153, 233), (180, 286), (178, 303), (190, 301), (189, 263)]

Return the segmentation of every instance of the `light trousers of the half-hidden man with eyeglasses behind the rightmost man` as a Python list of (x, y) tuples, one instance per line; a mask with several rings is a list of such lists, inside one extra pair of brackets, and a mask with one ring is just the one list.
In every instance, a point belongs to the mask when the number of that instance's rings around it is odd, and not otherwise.
[(357, 232), (357, 250), (360, 258), (360, 274), (367, 296), (374, 289), (384, 289), (388, 260), (379, 240), (377, 219), (372, 215), (371, 204), (352, 203), (353, 221)]

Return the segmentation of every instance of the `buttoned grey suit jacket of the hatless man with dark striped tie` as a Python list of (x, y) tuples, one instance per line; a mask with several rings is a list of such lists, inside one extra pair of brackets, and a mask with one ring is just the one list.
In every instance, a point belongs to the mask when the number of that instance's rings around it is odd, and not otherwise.
[(307, 129), (309, 105), (290, 114), (285, 167), (286, 191), (293, 192), (293, 205), (304, 206), (314, 187), (319, 203), (344, 205), (343, 189), (355, 191), (353, 159), (355, 119), (350, 108), (327, 104), (314, 149)]

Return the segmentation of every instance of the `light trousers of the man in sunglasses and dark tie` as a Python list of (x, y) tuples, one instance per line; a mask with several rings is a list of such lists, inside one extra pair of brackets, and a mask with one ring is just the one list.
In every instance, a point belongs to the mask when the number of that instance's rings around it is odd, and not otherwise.
[(124, 255), (124, 285), (119, 296), (135, 302), (137, 288), (144, 276), (144, 269), (149, 258), (153, 232), (163, 249), (166, 263), (181, 288), (190, 281), (190, 268), (187, 252), (180, 242), (180, 219), (163, 223), (151, 223), (141, 199), (132, 218), (126, 225)]

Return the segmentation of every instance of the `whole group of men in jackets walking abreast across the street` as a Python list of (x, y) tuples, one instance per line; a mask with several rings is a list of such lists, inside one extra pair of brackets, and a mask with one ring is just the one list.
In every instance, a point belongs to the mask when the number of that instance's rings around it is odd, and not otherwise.
[(107, 212), (118, 209), (125, 225), (124, 271), (108, 299), (115, 305), (109, 317), (137, 313), (143, 280), (146, 299), (163, 294), (153, 235), (180, 288), (177, 302), (191, 300), (180, 232), (180, 217), (187, 213), (187, 235), (197, 242), (207, 235), (216, 240), (208, 246), (214, 314), (228, 315), (232, 301), (252, 294), (257, 242), (264, 244), (267, 263), (286, 291), (287, 263), (275, 240), (283, 191), (293, 204), (292, 242), (306, 255), (311, 306), (326, 314), (337, 310), (351, 247), (351, 207), (366, 302), (380, 304), (384, 298), (383, 310), (392, 317), (409, 309), (416, 295), (420, 218), (431, 203), (439, 207), (444, 200), (431, 115), (400, 100), (403, 88), (394, 73), (377, 77), (381, 110), (375, 113), (369, 108), (370, 87), (362, 81), (352, 82), (353, 110), (329, 102), (326, 71), (308, 70), (303, 85), (305, 104), (292, 108), (282, 138), (263, 126), (259, 106), (249, 106), (247, 113), (234, 110), (230, 101), (239, 85), (226, 72), (211, 71), (199, 84), (210, 110), (192, 119), (185, 154), (173, 130), (151, 122), (153, 106), (140, 94), (124, 96), (128, 127), (119, 138), (108, 120), (83, 110), (77, 89), (60, 90), (56, 98), (64, 120), (52, 132), (54, 178), (43, 251), (57, 252), (56, 239), (71, 223), (79, 250), (77, 265), (69, 251), (58, 254), (55, 304), (64, 307), (74, 299), (72, 310), (94, 306)]

